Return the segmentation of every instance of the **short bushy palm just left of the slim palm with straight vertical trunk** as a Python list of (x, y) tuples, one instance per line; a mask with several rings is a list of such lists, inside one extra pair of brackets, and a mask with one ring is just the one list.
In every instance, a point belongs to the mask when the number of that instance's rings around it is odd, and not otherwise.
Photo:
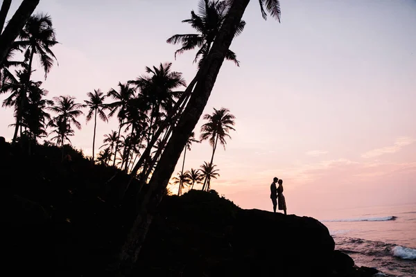
[[(60, 143), (62, 145), (62, 159), (64, 157), (64, 142), (68, 136), (73, 135), (73, 129), (71, 129), (71, 124), (75, 125), (78, 129), (81, 129), (81, 124), (76, 120), (76, 118), (83, 114), (83, 111), (80, 109), (84, 105), (75, 102), (75, 98), (71, 96), (59, 96), (54, 97), (53, 101), (55, 105), (49, 107), (51, 111), (54, 111), (57, 116), (52, 118), (49, 125), (56, 127), (58, 132), (55, 132), (58, 135), (61, 135)], [(69, 140), (69, 139), (68, 139)]]

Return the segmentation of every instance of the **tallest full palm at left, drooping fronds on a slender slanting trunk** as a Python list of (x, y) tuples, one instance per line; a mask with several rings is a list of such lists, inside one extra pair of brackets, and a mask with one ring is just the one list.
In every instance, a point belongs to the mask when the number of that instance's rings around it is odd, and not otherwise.
[[(42, 13), (31, 16), (26, 22), (24, 28), (21, 30), (18, 41), (15, 42), (17, 48), (26, 48), (24, 52), (24, 60), (28, 62), (25, 84), (27, 85), (31, 80), (32, 63), (35, 54), (39, 55), (40, 64), (45, 73), (45, 79), (53, 66), (53, 59), (56, 60), (55, 55), (51, 51), (51, 47), (58, 42), (55, 39), (55, 30), (52, 26), (52, 19), (49, 15)], [(24, 89), (23, 96), (26, 96), (26, 89)], [(24, 97), (21, 98), (24, 103)], [(17, 137), (17, 130), (19, 129), (21, 121), (21, 113), (24, 105), (17, 113), (17, 122), (15, 127), (15, 134), (13, 135), (13, 143)]]

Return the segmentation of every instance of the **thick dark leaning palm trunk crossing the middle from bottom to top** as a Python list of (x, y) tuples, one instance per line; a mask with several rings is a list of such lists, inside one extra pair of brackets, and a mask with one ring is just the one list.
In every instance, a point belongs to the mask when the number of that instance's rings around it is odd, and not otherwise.
[(141, 211), (133, 223), (123, 249), (121, 249), (118, 263), (120, 276), (128, 276), (133, 265), (137, 262), (141, 245), (146, 238), (155, 210), (162, 200), (168, 181), (173, 170), (175, 170), (177, 160), (180, 158), (180, 154), (187, 144), (191, 132), (198, 123), (205, 105), (207, 105), (209, 95), (224, 62), (225, 53), (227, 53), (236, 33), (236, 28), (249, 2), (250, 0), (234, 0), (232, 2), (227, 18), (220, 28), (220, 33), (211, 48), (211, 52), (208, 54), (207, 60), (202, 63), (201, 74), (198, 74), (200, 78), (198, 78), (196, 88), (191, 94), (191, 99), (180, 117), (179, 123), (173, 130), (171, 139), (166, 145), (155, 172), (153, 172), (148, 193), (146, 193), (143, 202), (141, 202)]

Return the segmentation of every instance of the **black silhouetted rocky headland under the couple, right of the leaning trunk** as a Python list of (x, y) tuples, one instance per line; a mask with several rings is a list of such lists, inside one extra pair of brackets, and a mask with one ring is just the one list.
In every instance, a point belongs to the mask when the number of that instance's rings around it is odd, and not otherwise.
[(372, 276), (311, 217), (243, 210), (215, 193), (166, 197), (141, 251), (144, 276)]

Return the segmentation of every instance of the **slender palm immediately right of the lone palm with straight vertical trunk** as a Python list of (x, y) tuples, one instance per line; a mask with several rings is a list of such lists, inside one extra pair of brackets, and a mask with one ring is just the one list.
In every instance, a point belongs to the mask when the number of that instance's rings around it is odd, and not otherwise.
[[(108, 108), (110, 109), (110, 114), (108, 116), (113, 116), (117, 111), (117, 118), (119, 118), (119, 139), (121, 136), (121, 127), (123, 127), (123, 123), (125, 120), (125, 113), (128, 107), (128, 102), (135, 97), (135, 89), (130, 87), (130, 84), (121, 84), (119, 82), (119, 90), (110, 89), (107, 92), (107, 96), (114, 99), (114, 102), (108, 104)], [(114, 161), (113, 166), (116, 164), (116, 156), (118, 153), (119, 143), (116, 144), (116, 149), (114, 150)]]

